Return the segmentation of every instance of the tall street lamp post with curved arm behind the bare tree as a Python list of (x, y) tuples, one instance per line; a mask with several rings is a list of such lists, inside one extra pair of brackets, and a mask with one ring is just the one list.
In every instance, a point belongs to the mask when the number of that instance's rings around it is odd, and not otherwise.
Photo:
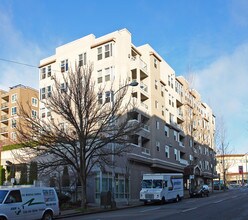
[[(133, 81), (129, 84), (126, 84), (122, 87), (120, 87), (116, 92), (114, 92), (112, 94), (112, 109), (114, 108), (114, 97), (116, 95), (116, 93), (118, 93), (121, 89), (124, 89), (125, 87), (128, 87), (128, 86), (132, 86), (132, 87), (135, 87), (135, 86), (138, 86), (138, 82), (137, 81)], [(114, 119), (114, 113), (112, 115), (112, 119)], [(113, 123), (113, 122), (112, 122)], [(112, 143), (112, 193), (113, 193), (113, 204), (112, 206), (116, 206), (116, 203), (115, 203), (115, 192), (116, 192), (116, 185), (115, 185), (115, 143)]]

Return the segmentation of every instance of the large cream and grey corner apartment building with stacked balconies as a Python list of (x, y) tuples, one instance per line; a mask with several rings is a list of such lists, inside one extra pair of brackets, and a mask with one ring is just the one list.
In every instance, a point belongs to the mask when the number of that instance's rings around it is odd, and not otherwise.
[[(143, 129), (133, 135), (132, 152), (115, 167), (116, 199), (138, 199), (144, 173), (185, 173), (185, 187), (192, 176), (198, 183), (212, 178), (213, 112), (187, 80), (176, 77), (175, 71), (151, 46), (133, 45), (126, 29), (99, 38), (91, 34), (62, 45), (54, 55), (40, 61), (42, 100), (51, 93), (51, 76), (60, 77), (75, 62), (93, 63), (96, 86), (112, 82), (117, 90), (120, 81), (139, 83), (129, 88), (127, 95), (135, 103), (135, 113), (130, 117), (142, 122)], [(40, 114), (45, 118), (51, 112), (41, 104)], [(105, 168), (104, 172), (94, 169), (90, 184), (92, 200), (111, 189), (111, 171), (111, 168)]]

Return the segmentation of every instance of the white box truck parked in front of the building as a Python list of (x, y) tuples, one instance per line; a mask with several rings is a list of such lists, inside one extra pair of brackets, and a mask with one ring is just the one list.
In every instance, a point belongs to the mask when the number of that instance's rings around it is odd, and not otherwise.
[(143, 174), (140, 201), (178, 202), (183, 198), (183, 174), (181, 173), (153, 173)]

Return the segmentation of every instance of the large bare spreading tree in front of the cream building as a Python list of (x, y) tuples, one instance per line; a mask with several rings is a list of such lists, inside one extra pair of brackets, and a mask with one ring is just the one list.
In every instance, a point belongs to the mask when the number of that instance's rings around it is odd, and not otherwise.
[[(75, 67), (53, 77), (51, 94), (43, 103), (50, 109), (51, 118), (32, 117), (20, 110), (24, 122), (17, 126), (18, 141), (37, 156), (39, 168), (52, 169), (70, 166), (82, 186), (82, 208), (86, 208), (86, 181), (96, 164), (111, 164), (111, 156), (120, 156), (130, 150), (130, 135), (140, 124), (131, 123), (128, 85), (98, 89), (93, 80), (92, 66)], [(63, 87), (61, 84), (63, 83)], [(108, 96), (103, 100), (103, 94)], [(115, 148), (111, 145), (114, 143)]]

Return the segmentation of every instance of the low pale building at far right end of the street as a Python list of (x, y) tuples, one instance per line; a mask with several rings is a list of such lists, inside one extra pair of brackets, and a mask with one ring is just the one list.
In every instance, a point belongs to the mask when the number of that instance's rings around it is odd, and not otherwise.
[(227, 184), (248, 183), (247, 154), (216, 155), (216, 170), (220, 180)]

